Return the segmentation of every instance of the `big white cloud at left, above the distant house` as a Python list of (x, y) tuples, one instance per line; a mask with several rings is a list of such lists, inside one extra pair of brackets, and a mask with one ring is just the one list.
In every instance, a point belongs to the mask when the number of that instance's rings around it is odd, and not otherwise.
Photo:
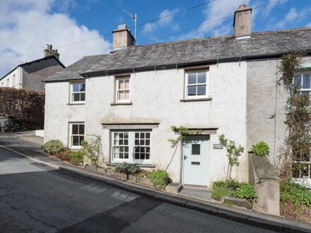
[[(58, 49), (60, 60), (66, 66), (82, 56), (102, 54), (111, 49), (111, 44), (97, 30), (78, 25), (66, 13), (52, 13), (55, 0), (1, 0), (0, 4), (0, 76), (20, 64), (43, 57), (45, 44)], [(62, 9), (71, 7), (67, 1)], [(90, 38), (99, 37), (81, 44), (61, 47)], [(59, 48), (57, 47), (59, 46)]]

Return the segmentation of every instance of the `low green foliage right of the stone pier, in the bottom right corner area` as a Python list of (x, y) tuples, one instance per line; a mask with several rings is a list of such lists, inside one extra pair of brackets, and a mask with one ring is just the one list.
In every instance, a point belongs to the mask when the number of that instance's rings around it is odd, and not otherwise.
[(305, 204), (311, 208), (311, 192), (299, 184), (282, 181), (280, 184), (280, 201), (291, 201), (295, 208), (301, 208)]

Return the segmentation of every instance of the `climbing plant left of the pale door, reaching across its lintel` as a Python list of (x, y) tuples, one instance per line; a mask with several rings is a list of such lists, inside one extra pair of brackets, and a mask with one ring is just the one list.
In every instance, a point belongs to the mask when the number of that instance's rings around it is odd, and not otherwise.
[[(177, 146), (180, 143), (180, 141), (183, 141), (186, 136), (189, 135), (197, 135), (197, 134), (201, 134), (201, 130), (194, 130), (194, 129), (187, 129), (184, 126), (170, 126), (170, 129), (172, 129), (172, 131), (176, 134), (178, 134), (177, 138), (168, 138), (168, 141), (172, 144), (171, 148), (175, 148), (174, 153), (172, 154), (172, 158), (170, 159), (170, 162), (168, 163), (168, 167), (170, 167), (170, 164), (172, 163), (172, 159), (174, 158), (175, 154), (176, 154), (176, 150), (177, 150)], [(165, 172), (168, 170), (168, 167), (166, 167)]]

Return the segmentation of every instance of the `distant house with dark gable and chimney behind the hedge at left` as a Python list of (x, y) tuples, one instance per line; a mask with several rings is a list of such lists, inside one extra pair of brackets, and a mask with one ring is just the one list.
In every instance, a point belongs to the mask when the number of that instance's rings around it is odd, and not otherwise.
[(16, 66), (0, 78), (0, 87), (45, 91), (42, 80), (64, 68), (66, 66), (59, 61), (57, 49), (52, 49), (52, 45), (47, 44), (42, 59)]

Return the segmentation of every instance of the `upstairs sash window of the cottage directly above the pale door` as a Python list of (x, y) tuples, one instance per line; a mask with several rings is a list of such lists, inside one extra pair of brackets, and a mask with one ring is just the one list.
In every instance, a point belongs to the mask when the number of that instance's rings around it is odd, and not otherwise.
[(191, 71), (186, 73), (185, 99), (204, 98), (208, 96), (209, 71)]

